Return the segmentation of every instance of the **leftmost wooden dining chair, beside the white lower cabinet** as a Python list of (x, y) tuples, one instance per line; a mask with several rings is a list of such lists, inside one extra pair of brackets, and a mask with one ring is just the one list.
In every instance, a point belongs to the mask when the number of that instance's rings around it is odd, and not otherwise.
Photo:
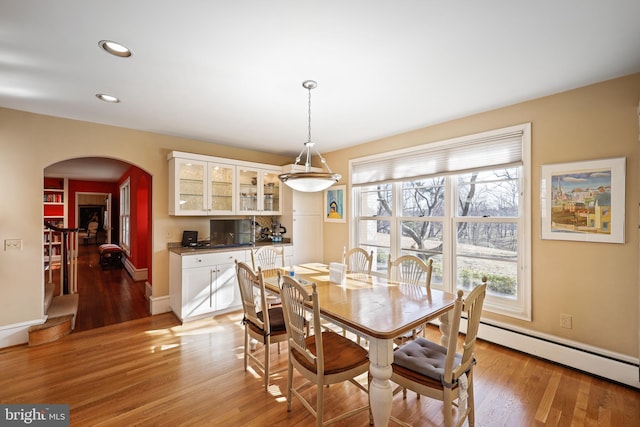
[[(260, 267), (255, 272), (247, 263), (236, 260), (236, 274), (244, 310), (244, 318), (242, 319), (244, 324), (244, 370), (247, 370), (248, 359), (253, 360), (263, 371), (264, 389), (266, 391), (269, 388), (269, 376), (284, 371), (284, 369), (281, 369), (270, 372), (271, 344), (278, 343), (279, 352), (279, 343), (287, 340), (284, 314), (282, 307), (270, 307), (267, 303), (267, 292)], [(251, 354), (249, 348), (250, 338), (264, 344), (263, 361)]]

